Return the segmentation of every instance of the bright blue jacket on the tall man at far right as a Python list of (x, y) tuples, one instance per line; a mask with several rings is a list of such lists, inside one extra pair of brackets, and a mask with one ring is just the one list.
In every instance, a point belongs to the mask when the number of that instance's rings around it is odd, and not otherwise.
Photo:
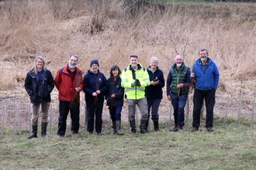
[(201, 69), (201, 59), (195, 61), (191, 73), (195, 73), (195, 88), (198, 90), (216, 90), (220, 80), (220, 74), (216, 63), (208, 58), (209, 62), (206, 67), (206, 72)]

